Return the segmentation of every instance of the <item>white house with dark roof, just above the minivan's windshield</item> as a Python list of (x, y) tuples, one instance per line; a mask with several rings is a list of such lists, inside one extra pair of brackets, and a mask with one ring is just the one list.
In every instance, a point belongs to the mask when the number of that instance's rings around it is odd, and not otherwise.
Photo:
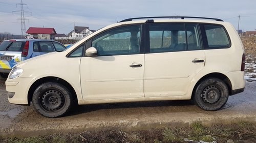
[(82, 39), (93, 32), (95, 32), (95, 30), (89, 30), (89, 27), (75, 27), (68, 36), (70, 39)]

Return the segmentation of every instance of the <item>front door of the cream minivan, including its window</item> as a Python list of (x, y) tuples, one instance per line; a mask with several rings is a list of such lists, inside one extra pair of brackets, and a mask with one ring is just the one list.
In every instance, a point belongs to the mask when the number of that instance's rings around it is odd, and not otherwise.
[(144, 96), (144, 54), (140, 54), (141, 26), (125, 26), (92, 38), (96, 57), (82, 57), (83, 100), (140, 98)]

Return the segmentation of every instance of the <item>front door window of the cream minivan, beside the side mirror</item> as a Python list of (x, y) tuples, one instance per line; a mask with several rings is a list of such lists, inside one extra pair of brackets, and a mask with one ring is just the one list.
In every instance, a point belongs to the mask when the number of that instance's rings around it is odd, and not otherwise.
[(98, 56), (138, 54), (140, 25), (125, 26), (103, 32), (92, 40)]

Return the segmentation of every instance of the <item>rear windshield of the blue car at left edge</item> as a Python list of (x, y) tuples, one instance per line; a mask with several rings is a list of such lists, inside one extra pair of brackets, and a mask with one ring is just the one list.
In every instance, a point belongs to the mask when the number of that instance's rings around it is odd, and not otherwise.
[(24, 44), (23, 41), (3, 41), (0, 44), (0, 51), (22, 52)]

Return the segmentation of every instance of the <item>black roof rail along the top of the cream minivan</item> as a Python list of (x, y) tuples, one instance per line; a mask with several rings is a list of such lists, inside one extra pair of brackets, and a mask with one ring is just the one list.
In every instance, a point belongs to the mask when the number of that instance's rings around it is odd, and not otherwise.
[(197, 18), (197, 19), (211, 19), (211, 20), (216, 20), (216, 21), (223, 21), (222, 19), (218, 19), (218, 18), (208, 18), (208, 17), (193, 17), (193, 16), (155, 16), (155, 17), (135, 17), (135, 18), (128, 18), (128, 19), (124, 19), (122, 21), (119, 22), (125, 22), (125, 21), (132, 21), (134, 19), (148, 19), (148, 18)]

